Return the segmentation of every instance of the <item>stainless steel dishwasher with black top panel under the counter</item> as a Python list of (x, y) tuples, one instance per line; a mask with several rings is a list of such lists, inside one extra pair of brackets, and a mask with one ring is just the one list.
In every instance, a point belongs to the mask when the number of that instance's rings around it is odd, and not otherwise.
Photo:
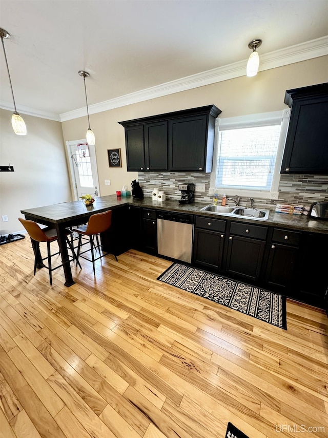
[(193, 216), (157, 211), (158, 254), (191, 263)]

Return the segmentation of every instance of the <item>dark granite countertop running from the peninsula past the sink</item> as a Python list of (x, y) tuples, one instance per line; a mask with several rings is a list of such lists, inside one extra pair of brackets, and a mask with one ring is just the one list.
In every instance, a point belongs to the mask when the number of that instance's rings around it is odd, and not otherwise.
[(138, 200), (134, 199), (132, 196), (122, 196), (121, 198), (117, 198), (116, 195), (108, 195), (96, 198), (91, 207), (86, 207), (81, 201), (72, 201), (44, 207), (30, 208), (29, 210), (22, 210), (21, 213), (35, 216), (35, 219), (43, 218), (49, 222), (60, 223), (64, 222), (67, 218), (83, 218), (84, 216), (90, 216), (91, 211), (94, 213), (100, 213), (109, 208), (115, 208), (125, 204), (156, 208), (156, 210), (168, 210), (178, 213), (190, 213), (193, 215), (197, 214), (199, 216), (207, 216), (216, 219), (228, 219), (233, 220), (234, 222), (247, 222), (254, 225), (278, 226), (322, 234), (328, 233), (328, 221), (312, 219), (305, 215), (292, 215), (270, 211), (268, 220), (259, 221), (241, 216), (231, 217), (215, 215), (209, 212), (201, 212), (201, 208), (208, 205), (207, 203), (194, 202), (193, 204), (179, 204), (179, 201), (175, 199), (168, 199), (160, 202), (153, 201), (150, 197)]

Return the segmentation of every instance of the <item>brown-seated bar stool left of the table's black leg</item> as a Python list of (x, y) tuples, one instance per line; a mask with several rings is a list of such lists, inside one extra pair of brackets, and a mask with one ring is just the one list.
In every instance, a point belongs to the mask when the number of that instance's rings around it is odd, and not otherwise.
[[(56, 266), (55, 268), (52, 268), (51, 266), (51, 257), (59, 254), (59, 251), (51, 254), (50, 251), (50, 243), (54, 242), (54, 241), (58, 241), (58, 236), (57, 236), (57, 231), (55, 230), (55, 228), (41, 228), (36, 222), (34, 222), (33, 220), (27, 220), (27, 219), (23, 219), (23, 218), (18, 218), (19, 222), (21, 222), (25, 228), (25, 230), (28, 232), (28, 235), (30, 236), (30, 238), (32, 240), (34, 240), (35, 242), (35, 247), (33, 246), (33, 250), (34, 250), (34, 275), (36, 272), (36, 266), (37, 264), (40, 264), (43, 266), (43, 268), (47, 268), (49, 271), (49, 278), (50, 278), (50, 285), (52, 285), (52, 271), (54, 271), (55, 269), (61, 268), (61, 266), (63, 266), (63, 263), (59, 264), (58, 266)], [(66, 235), (66, 242), (70, 248), (70, 250), (72, 251), (73, 254), (73, 258), (72, 260), (76, 260), (76, 264), (79, 265), (80, 269), (82, 269), (80, 263), (78, 262), (77, 256), (75, 254), (74, 251), (74, 247), (70, 242), (70, 239), (68, 238), (68, 236), (71, 234), (71, 230), (69, 230), (68, 228), (65, 229), (65, 235)], [(47, 252), (48, 255), (47, 257), (42, 258), (42, 261), (40, 262), (39, 260), (37, 260), (36, 254), (37, 251), (39, 250), (40, 247), (40, 242), (47, 242)], [(48, 259), (48, 266), (46, 264), (43, 263), (43, 260)], [(70, 261), (72, 261), (70, 260)]]

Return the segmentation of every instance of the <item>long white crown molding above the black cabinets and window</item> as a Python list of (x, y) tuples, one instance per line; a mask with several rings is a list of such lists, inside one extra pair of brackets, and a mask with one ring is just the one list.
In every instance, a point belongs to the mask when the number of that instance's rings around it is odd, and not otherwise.
[[(311, 40), (305, 43), (286, 47), (284, 49), (275, 50), (270, 53), (260, 54), (259, 71), (282, 67), (284, 65), (306, 61), (324, 55), (328, 55), (328, 35), (316, 40)], [(175, 81), (167, 82), (165, 84), (157, 85), (145, 90), (126, 94), (125, 96), (120, 96), (119, 98), (100, 102), (98, 104), (89, 106), (89, 114), (95, 114), (97, 112), (107, 111), (121, 106), (131, 105), (162, 96), (168, 96), (169, 94), (178, 93), (180, 91), (186, 91), (192, 88), (238, 78), (245, 75), (246, 64), (247, 60), (238, 61), (223, 67), (192, 74), (186, 78), (177, 79)], [(87, 109), (86, 107), (79, 108), (73, 111), (62, 113), (59, 116), (60, 121), (65, 122), (66, 120), (87, 116)]]

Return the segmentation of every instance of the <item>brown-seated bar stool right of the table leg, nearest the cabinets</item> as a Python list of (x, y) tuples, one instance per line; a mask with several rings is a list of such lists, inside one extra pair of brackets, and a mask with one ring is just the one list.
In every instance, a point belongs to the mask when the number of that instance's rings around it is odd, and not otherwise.
[[(78, 228), (73, 228), (72, 230), (73, 232), (78, 233), (77, 261), (79, 257), (82, 257), (88, 261), (92, 261), (94, 275), (96, 275), (94, 262), (110, 254), (108, 252), (106, 252), (105, 254), (100, 254), (100, 248), (101, 251), (103, 252), (103, 246), (99, 244), (98, 235), (99, 233), (104, 233), (105, 231), (107, 231), (111, 226), (111, 224), (112, 224), (112, 211), (108, 210), (107, 212), (104, 213), (95, 213), (94, 215), (90, 216), (87, 225), (82, 225)], [(88, 236), (89, 238), (87, 238), (86, 236)], [(94, 238), (96, 238), (96, 242), (97, 242), (96, 245), (94, 244)], [(82, 239), (87, 240), (87, 242), (82, 243)], [(90, 244), (90, 248), (86, 251), (81, 252), (81, 247), (86, 244)], [(97, 248), (99, 251), (99, 257), (95, 258), (93, 251), (94, 250), (96, 251)], [(81, 255), (89, 251), (91, 251), (91, 260)], [(114, 257), (116, 261), (118, 261), (115, 254)]]

